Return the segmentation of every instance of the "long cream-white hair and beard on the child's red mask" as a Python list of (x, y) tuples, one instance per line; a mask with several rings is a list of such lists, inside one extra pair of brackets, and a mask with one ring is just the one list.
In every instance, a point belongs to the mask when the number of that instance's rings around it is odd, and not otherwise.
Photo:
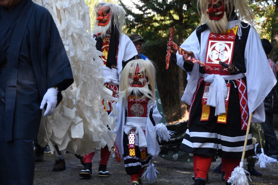
[[(145, 78), (148, 77), (148, 83), (145, 82), (144, 87), (131, 87), (130, 83), (133, 81), (130, 80), (129, 76), (132, 77), (135, 74), (137, 65), (140, 68), (140, 72), (142, 76), (144, 75)], [(141, 98), (144, 99), (145, 97), (149, 98), (151, 101), (155, 100), (155, 75), (156, 69), (154, 64), (150, 60), (132, 60), (126, 64), (124, 70), (121, 75), (120, 84), (119, 84), (119, 96), (120, 98), (125, 97), (126, 99), (128, 96), (133, 93), (136, 97), (142, 96)], [(146, 79), (145, 79), (146, 80)], [(150, 85), (150, 89), (148, 87)]]

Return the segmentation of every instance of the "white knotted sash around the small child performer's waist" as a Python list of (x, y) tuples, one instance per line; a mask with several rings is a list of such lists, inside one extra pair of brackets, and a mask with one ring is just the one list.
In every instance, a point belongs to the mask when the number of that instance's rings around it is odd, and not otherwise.
[(147, 117), (126, 117), (124, 133), (129, 134), (130, 130), (135, 129), (135, 145), (147, 147), (146, 136), (143, 132), (146, 128)]

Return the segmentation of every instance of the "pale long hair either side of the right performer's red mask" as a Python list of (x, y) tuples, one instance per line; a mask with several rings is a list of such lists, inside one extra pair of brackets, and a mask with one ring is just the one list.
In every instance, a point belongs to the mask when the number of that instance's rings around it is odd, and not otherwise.
[[(245, 0), (225, 0), (225, 5), (227, 14), (231, 16), (234, 8), (238, 19), (246, 20), (251, 26), (255, 27), (254, 13)], [(206, 23), (205, 15), (208, 10), (208, 0), (198, 0), (197, 8), (201, 12), (201, 22)], [(231, 18), (230, 16), (228, 20)]]

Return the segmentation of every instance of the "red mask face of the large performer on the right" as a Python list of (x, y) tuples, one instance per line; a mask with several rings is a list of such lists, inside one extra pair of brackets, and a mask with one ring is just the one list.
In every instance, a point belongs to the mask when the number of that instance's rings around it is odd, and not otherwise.
[(209, 0), (207, 14), (210, 20), (220, 20), (225, 13), (225, 0)]

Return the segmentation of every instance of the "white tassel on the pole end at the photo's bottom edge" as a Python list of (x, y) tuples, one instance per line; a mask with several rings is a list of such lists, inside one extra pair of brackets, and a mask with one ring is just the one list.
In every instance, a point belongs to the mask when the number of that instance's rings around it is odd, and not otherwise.
[(228, 183), (231, 183), (232, 185), (249, 185), (245, 173), (248, 173), (250, 176), (250, 173), (243, 169), (243, 162), (240, 162), (239, 166), (234, 168), (234, 171), (232, 172), (231, 177), (228, 180)]

